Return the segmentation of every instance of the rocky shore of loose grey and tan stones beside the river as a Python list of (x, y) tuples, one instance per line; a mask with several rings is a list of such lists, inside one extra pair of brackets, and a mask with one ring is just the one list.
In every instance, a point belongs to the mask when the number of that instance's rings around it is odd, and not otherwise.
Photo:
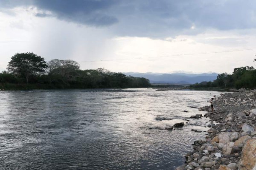
[(256, 90), (219, 96), (214, 109), (199, 108), (217, 123), (176, 170), (256, 170)]

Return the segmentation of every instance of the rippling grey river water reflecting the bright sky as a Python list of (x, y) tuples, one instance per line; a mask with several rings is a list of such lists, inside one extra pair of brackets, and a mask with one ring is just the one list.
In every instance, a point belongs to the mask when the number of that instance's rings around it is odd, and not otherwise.
[(192, 143), (205, 139), (191, 129), (207, 130), (209, 119), (189, 117), (204, 114), (197, 108), (213, 94), (219, 92), (2, 91), (0, 169), (174, 170)]

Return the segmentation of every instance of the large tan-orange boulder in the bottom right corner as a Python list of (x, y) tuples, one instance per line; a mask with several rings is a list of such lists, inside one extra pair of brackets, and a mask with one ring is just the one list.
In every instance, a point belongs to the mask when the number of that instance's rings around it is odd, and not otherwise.
[(239, 170), (256, 169), (256, 139), (248, 139), (245, 142), (238, 167)]

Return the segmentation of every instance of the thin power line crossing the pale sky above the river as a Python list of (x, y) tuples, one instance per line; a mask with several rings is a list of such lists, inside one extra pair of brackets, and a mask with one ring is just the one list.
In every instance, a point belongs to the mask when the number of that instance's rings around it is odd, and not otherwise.
[(150, 58), (163, 58), (163, 57), (188, 56), (188, 55), (201, 55), (201, 54), (216, 54), (216, 53), (227, 53), (227, 52), (234, 52), (234, 51), (248, 51), (248, 50), (256, 50), (256, 48), (250, 48), (250, 49), (239, 49), (239, 50), (230, 50), (230, 51), (213, 51), (213, 52), (194, 53), (194, 54), (175, 54), (175, 55), (158, 56), (158, 57), (137, 57), (137, 58), (130, 58), (130, 59), (102, 59), (102, 60), (89, 60), (89, 61), (80, 61), (80, 62), (122, 61), (122, 60), (133, 60), (133, 59), (150, 59)]

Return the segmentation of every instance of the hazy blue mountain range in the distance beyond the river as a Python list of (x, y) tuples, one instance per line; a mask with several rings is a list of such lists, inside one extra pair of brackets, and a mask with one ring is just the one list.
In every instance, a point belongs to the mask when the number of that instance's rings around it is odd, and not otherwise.
[(217, 78), (217, 73), (187, 74), (187, 73), (123, 73), (126, 76), (144, 77), (150, 80), (150, 83), (171, 83), (171, 84), (195, 84), (204, 81), (213, 81)]

